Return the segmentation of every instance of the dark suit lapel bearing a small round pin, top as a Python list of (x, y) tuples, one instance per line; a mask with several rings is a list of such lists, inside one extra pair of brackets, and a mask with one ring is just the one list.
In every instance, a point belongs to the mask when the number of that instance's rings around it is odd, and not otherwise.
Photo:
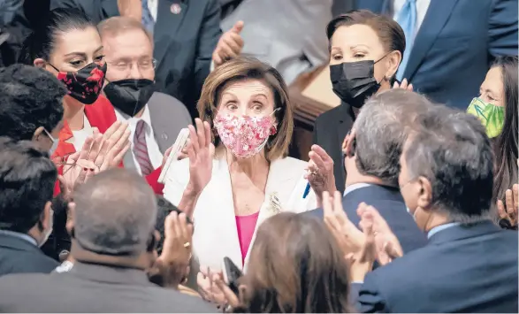
[[(178, 14), (172, 13), (172, 4), (179, 5), (180, 11)], [(158, 11), (153, 34), (155, 42), (154, 57), (157, 60), (157, 67), (161, 64), (170, 43), (179, 31), (180, 23), (186, 16), (186, 11), (187, 4), (184, 4), (184, 2), (180, 0), (158, 1)]]

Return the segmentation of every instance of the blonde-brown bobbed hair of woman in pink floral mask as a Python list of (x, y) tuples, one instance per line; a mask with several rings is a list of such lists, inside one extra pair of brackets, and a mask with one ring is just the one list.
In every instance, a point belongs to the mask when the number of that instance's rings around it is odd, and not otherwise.
[[(260, 80), (271, 89), (274, 96), (274, 109), (278, 109), (275, 118), (278, 121), (278, 132), (271, 135), (265, 145), (265, 157), (268, 161), (288, 155), (288, 145), (294, 132), (294, 110), (288, 98), (288, 88), (279, 72), (253, 57), (237, 57), (218, 66), (209, 74), (202, 87), (202, 95), (198, 101), (198, 113), (203, 121), (214, 128), (213, 119), (223, 88), (230, 82), (243, 80)], [(216, 147), (220, 140), (213, 133), (212, 141)]]

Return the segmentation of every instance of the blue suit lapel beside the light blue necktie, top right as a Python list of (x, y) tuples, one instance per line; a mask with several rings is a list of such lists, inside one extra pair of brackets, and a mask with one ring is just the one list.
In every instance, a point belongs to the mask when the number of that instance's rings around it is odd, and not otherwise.
[(413, 79), (418, 66), (424, 59), (427, 51), (430, 50), (441, 29), (445, 26), (457, 2), (458, 0), (431, 1), (431, 4), (429, 4), (429, 9), (425, 14), (420, 30), (416, 34), (413, 49), (409, 55), (408, 65), (404, 71), (404, 77), (408, 80)]

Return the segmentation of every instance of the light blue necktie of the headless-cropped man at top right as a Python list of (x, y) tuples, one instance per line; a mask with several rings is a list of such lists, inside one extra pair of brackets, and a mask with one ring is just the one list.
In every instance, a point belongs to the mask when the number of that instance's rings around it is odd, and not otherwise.
[(404, 71), (408, 65), (409, 55), (411, 54), (413, 42), (415, 41), (416, 0), (406, 0), (396, 21), (402, 27), (404, 34), (406, 34), (406, 50), (404, 51), (404, 57), (402, 58), (400, 67), (396, 72), (396, 78), (402, 80), (404, 79)]

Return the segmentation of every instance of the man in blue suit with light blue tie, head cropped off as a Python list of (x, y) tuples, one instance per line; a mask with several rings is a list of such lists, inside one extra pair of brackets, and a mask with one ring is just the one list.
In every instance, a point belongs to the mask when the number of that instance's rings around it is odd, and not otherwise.
[(517, 0), (355, 0), (393, 16), (407, 44), (397, 79), (466, 109), (496, 56), (517, 56)]

